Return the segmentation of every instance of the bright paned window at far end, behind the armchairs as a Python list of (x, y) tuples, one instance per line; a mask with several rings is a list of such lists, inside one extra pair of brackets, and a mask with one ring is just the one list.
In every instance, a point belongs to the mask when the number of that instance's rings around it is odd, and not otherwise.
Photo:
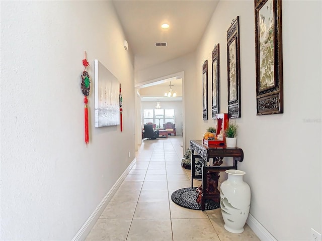
[(163, 128), (167, 122), (175, 123), (175, 109), (144, 109), (143, 123), (153, 123), (156, 127)]

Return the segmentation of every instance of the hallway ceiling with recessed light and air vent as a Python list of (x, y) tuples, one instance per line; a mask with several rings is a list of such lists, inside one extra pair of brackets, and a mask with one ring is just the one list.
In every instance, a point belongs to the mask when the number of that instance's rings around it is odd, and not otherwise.
[[(134, 54), (135, 70), (142, 70), (196, 50), (218, 1), (112, 1)], [(161, 25), (168, 23), (166, 30)], [(155, 47), (167, 42), (167, 47)]]

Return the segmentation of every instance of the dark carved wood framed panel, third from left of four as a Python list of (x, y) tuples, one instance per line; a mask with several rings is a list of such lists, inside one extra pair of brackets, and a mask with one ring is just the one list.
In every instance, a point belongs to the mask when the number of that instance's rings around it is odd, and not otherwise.
[(227, 30), (228, 116), (239, 118), (240, 108), (240, 43), (239, 16)]

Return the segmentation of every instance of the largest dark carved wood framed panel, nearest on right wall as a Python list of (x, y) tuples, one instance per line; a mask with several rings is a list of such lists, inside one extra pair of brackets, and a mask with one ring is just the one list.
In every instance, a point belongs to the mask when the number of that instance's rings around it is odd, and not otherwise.
[(282, 1), (255, 0), (257, 115), (283, 113)]

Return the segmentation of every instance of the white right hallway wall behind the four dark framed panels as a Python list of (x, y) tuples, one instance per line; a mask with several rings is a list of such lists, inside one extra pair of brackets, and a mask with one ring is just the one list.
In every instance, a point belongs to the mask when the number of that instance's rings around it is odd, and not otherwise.
[[(250, 212), (277, 240), (310, 240), (311, 227), (322, 231), (321, 2), (282, 1), (283, 114), (256, 115), (254, 1), (219, 2), (196, 53), (196, 89), (202, 86), (204, 60), (209, 66), (211, 51), (220, 43), (220, 111), (227, 111), (226, 31), (236, 16), (241, 65), (237, 145), (245, 154), (238, 169), (246, 171), (251, 186)], [(195, 101), (201, 106), (201, 97)], [(195, 126), (212, 123), (198, 114)]]

